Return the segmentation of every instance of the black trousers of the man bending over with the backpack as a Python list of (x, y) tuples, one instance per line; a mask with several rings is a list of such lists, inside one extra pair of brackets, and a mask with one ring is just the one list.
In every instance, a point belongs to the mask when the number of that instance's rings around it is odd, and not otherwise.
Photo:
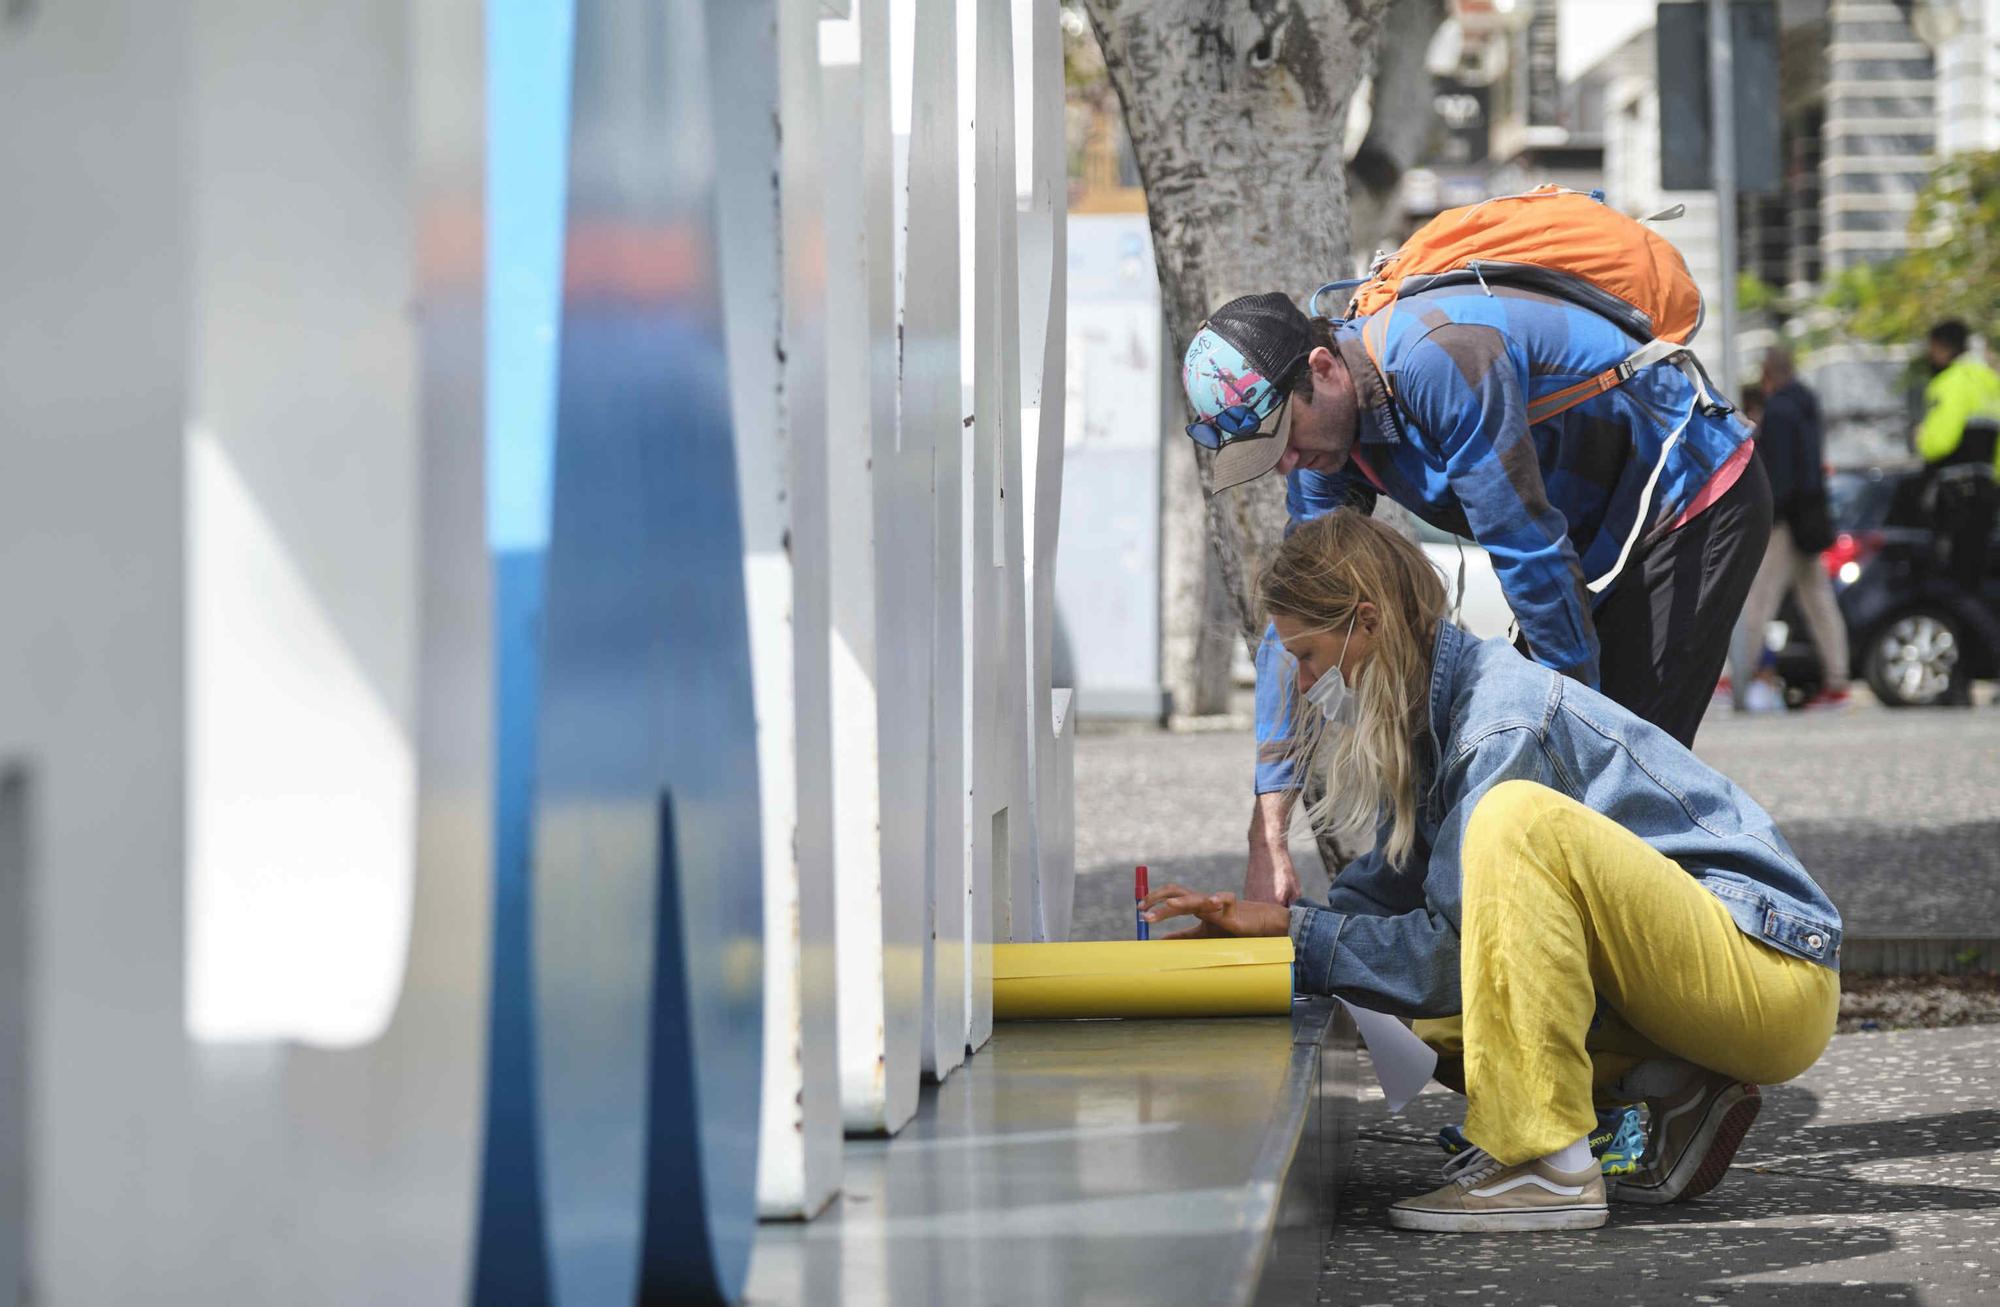
[(1752, 458), (1728, 494), (1612, 582), (1596, 612), (1604, 693), (1692, 745), (1768, 544), (1770, 480)]

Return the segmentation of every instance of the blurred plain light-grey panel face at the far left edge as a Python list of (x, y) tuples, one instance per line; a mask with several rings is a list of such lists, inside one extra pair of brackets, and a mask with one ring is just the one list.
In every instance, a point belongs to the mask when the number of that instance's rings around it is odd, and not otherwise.
[[(128, 4), (114, 24), (38, 8), (0, 34), (12, 180), (0, 755), (36, 767), (22, 1197), (28, 1277), (48, 1303), (192, 1287), (176, 1265), (194, 1155), (180, 789), (188, 30), (186, 6)], [(76, 148), (86, 132), (90, 152)], [(100, 200), (104, 176), (118, 178), (116, 208)]]

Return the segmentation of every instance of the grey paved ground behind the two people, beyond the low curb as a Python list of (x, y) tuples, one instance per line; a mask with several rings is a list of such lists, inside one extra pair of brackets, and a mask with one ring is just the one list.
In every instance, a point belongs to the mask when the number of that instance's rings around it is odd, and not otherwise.
[[(1696, 751), (1778, 819), (1852, 933), (2000, 935), (2000, 707), (1738, 717)], [(1076, 741), (1076, 939), (1132, 933), (1132, 865), (1234, 889), (1250, 821), (1248, 729)], [(1294, 839), (1306, 893), (1324, 889)]]

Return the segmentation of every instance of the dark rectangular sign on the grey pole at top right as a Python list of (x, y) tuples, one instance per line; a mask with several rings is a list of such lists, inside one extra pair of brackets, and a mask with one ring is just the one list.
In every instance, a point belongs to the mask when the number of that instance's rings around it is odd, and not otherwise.
[[(1730, 98), (1736, 120), (1736, 190), (1776, 192), (1784, 178), (1778, 148), (1778, 6), (1732, 0)], [(1660, 188), (1714, 190), (1710, 136), (1708, 6), (1662, 4), (1654, 40), (1660, 84)]]

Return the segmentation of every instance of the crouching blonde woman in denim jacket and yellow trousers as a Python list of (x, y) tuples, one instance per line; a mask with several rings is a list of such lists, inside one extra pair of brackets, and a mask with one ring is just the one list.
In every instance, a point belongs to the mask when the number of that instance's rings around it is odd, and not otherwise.
[[(1472, 1149), (1404, 1229), (1590, 1229), (1606, 1219), (1594, 1105), (1646, 1103), (1612, 1197), (1714, 1187), (1758, 1085), (1826, 1049), (1840, 915), (1742, 789), (1604, 695), (1474, 640), (1436, 568), (1342, 510), (1300, 528), (1262, 580), (1298, 661), (1298, 775), (1316, 825), (1376, 847), (1326, 903), (1168, 885), (1184, 933), (1290, 933), (1300, 991), (1416, 1021), (1458, 1081)], [(1366, 827), (1366, 825), (1364, 825)]]

